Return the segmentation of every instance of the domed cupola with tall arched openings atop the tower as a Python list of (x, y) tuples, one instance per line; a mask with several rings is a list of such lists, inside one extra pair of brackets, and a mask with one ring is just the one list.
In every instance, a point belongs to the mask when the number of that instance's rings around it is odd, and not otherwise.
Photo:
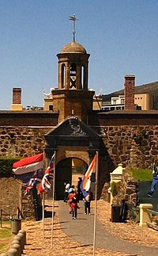
[(88, 58), (85, 48), (72, 41), (58, 55), (58, 89), (88, 90)]

